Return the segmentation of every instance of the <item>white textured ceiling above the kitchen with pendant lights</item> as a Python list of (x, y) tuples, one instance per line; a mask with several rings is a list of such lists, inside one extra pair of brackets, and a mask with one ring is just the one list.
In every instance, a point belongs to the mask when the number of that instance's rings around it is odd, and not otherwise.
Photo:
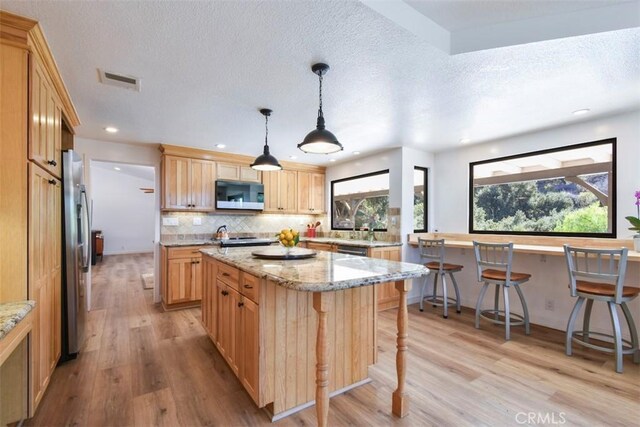
[[(497, 17), (500, 25), (558, 18), (606, 9), (594, 9), (601, 3), (440, 1), (411, 10), (446, 28), (486, 30)], [(317, 61), (331, 65), (324, 112), (345, 147), (338, 161), (356, 150), (439, 151), (461, 138), (482, 142), (640, 108), (637, 26), (449, 55), (358, 1), (3, 0), (2, 8), (41, 22), (82, 121), (76, 133), (87, 138), (223, 143), (258, 155), (258, 109), (268, 107), (272, 154), (328, 164), (296, 148), (315, 127)], [(100, 84), (98, 68), (140, 77), (142, 91)], [(591, 114), (571, 114), (582, 108)]]

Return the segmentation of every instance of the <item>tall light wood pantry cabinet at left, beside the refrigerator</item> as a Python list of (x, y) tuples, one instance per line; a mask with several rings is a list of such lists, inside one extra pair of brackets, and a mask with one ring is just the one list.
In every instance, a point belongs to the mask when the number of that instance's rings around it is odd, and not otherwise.
[(63, 121), (79, 125), (40, 26), (0, 11), (0, 303), (36, 302), (30, 416), (61, 351)]

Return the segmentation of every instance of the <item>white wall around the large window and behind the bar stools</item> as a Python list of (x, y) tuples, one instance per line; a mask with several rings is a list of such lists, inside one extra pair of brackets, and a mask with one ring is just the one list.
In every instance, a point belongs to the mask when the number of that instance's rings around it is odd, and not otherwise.
[[(434, 221), (430, 230), (447, 233), (468, 233), (469, 163), (494, 157), (520, 154), (563, 145), (617, 138), (617, 234), (630, 238), (625, 216), (634, 215), (634, 192), (640, 189), (640, 112), (600, 118), (575, 125), (544, 130), (484, 144), (464, 146), (456, 150), (435, 154), (437, 173), (433, 181)], [(414, 249), (417, 254), (417, 249)], [(465, 306), (475, 306), (480, 285), (477, 283), (475, 261), (470, 250), (448, 249), (448, 262), (462, 264), (458, 284)], [(516, 254), (514, 269), (533, 274), (523, 285), (531, 321), (564, 330), (575, 299), (567, 289), (567, 271), (563, 257)], [(626, 282), (640, 284), (640, 263), (629, 263)], [(485, 297), (488, 308), (491, 295)], [(545, 300), (554, 302), (554, 310), (545, 310)], [(511, 299), (519, 307), (517, 297)], [(611, 333), (611, 321), (602, 303), (594, 304), (594, 329)], [(631, 304), (636, 322), (640, 321), (640, 299)], [(623, 321), (624, 322), (624, 321)]]

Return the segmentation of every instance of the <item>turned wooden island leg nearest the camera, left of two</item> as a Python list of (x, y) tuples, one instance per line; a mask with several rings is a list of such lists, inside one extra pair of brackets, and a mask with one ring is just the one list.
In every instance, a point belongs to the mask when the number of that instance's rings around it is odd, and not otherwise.
[(318, 312), (316, 336), (316, 416), (318, 426), (326, 427), (329, 419), (329, 341), (327, 313), (333, 308), (334, 292), (314, 292), (313, 308)]

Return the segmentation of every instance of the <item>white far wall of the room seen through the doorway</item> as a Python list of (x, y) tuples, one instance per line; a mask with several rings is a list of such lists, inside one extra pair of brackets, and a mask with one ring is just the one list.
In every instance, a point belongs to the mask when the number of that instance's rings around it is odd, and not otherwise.
[(154, 180), (96, 167), (92, 162), (92, 228), (102, 230), (105, 255), (153, 252), (155, 194), (140, 188), (154, 185)]

